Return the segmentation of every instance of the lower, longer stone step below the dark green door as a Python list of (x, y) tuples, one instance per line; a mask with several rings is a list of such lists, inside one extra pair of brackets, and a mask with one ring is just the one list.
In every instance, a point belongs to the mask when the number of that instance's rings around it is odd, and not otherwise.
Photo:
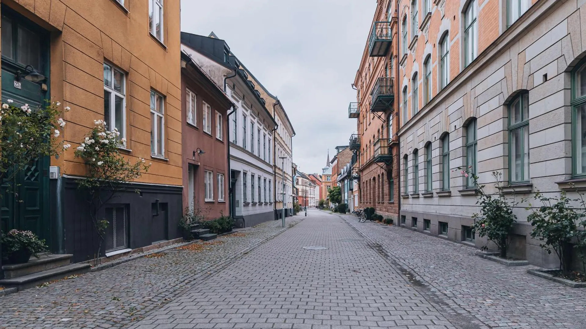
[(90, 271), (90, 267), (91, 266), (88, 263), (65, 265), (39, 273), (15, 277), (13, 279), (2, 279), (0, 280), (0, 286), (9, 288), (16, 287), (18, 290), (28, 289), (30, 287), (38, 286), (41, 283), (49, 282), (50, 280), (63, 279), (66, 276), (87, 273)]

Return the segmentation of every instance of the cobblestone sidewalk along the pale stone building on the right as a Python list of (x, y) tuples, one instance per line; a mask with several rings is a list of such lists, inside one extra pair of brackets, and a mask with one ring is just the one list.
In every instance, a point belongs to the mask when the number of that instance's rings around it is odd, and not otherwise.
[(470, 246), (406, 228), (343, 218), (391, 261), (449, 304), (449, 313), (471, 314), (488, 327), (586, 328), (586, 293), (476, 256)]

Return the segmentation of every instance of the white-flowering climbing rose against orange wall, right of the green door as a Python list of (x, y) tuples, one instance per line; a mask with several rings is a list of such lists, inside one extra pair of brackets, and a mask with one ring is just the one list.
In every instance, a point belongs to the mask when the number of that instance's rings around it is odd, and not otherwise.
[(96, 259), (100, 256), (105, 229), (110, 224), (99, 217), (100, 210), (151, 167), (151, 163), (147, 164), (142, 158), (134, 163), (126, 159), (120, 153), (125, 142), (118, 129), (108, 131), (105, 121), (95, 120), (94, 128), (75, 151), (76, 158), (82, 159), (87, 167), (87, 177), (79, 180), (79, 188), (87, 191), (90, 218), (99, 238)]

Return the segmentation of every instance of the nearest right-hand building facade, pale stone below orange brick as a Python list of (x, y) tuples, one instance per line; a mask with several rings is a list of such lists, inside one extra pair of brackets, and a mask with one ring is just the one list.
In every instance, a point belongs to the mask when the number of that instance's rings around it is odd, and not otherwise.
[[(479, 207), (473, 182), (458, 167), (471, 168), (491, 192), (492, 172), (502, 173), (517, 201), (582, 184), (586, 5), (509, 2), (519, 7), (441, 0), (428, 11), (425, 1), (399, 3), (400, 26), (407, 28), (399, 33), (408, 42), (396, 78), (405, 227), (486, 245), (469, 230)], [(555, 257), (529, 236), (527, 205), (515, 208), (511, 256), (555, 267)]]

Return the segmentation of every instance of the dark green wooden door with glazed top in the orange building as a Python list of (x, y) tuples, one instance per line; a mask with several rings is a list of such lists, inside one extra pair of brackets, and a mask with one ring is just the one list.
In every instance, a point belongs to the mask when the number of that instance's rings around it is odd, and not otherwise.
[[(2, 102), (30, 107), (46, 105), (49, 79), (33, 83), (25, 78), (30, 67), (49, 76), (49, 35), (25, 18), (2, 6)], [(16, 81), (16, 83), (15, 83)], [(2, 225), (9, 229), (29, 229), (51, 241), (49, 218), (49, 158), (42, 157), (2, 182)]]

